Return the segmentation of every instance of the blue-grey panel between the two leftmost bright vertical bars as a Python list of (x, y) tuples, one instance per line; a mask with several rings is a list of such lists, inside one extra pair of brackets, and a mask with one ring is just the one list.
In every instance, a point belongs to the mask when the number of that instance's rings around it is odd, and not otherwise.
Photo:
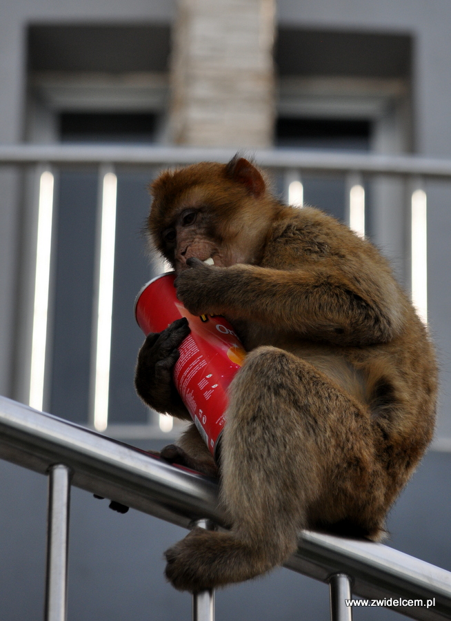
[(59, 175), (52, 414), (88, 422), (97, 172)]

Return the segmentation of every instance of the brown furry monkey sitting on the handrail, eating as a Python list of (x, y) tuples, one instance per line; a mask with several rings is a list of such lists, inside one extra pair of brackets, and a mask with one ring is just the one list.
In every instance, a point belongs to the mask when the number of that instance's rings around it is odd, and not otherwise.
[[(148, 230), (194, 315), (225, 315), (248, 355), (230, 384), (221, 460), (192, 424), (161, 451), (219, 475), (232, 528), (193, 529), (166, 552), (180, 590), (282, 564), (301, 529), (380, 540), (432, 438), (437, 368), (428, 333), (379, 251), (321, 211), (285, 206), (242, 157), (163, 172)], [(135, 384), (162, 413), (186, 319), (147, 337)]]

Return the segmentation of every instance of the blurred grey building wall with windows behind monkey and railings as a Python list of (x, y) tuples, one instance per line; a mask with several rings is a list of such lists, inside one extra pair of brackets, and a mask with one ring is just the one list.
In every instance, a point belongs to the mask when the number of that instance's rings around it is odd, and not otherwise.
[[(274, 146), (451, 157), (451, 6), (445, 0), (3, 0), (0, 143)], [(258, 162), (257, 162), (258, 163)], [(158, 417), (134, 395), (142, 336), (132, 305), (161, 266), (140, 235), (154, 170), (117, 170), (110, 426), (159, 448)], [(55, 177), (44, 410), (90, 424), (99, 174)], [(34, 173), (0, 170), (0, 393), (28, 402)], [(304, 201), (345, 217), (341, 177), (303, 178)], [(277, 187), (276, 187), (277, 189)], [(390, 513), (388, 544), (451, 570), (451, 210), (428, 184), (428, 308), (441, 364), (432, 450)], [(408, 288), (399, 181), (365, 186), (368, 236)], [(43, 609), (46, 480), (0, 463), (0, 618)], [(163, 580), (175, 526), (72, 490), (69, 619), (190, 618)], [(394, 619), (356, 609), (358, 619)], [(287, 570), (217, 594), (217, 619), (328, 618), (328, 589)]]

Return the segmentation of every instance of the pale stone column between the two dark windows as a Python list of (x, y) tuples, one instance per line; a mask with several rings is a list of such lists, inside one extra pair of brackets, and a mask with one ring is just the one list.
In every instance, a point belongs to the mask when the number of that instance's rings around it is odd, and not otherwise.
[(274, 126), (274, 0), (179, 0), (170, 139), (259, 148)]

